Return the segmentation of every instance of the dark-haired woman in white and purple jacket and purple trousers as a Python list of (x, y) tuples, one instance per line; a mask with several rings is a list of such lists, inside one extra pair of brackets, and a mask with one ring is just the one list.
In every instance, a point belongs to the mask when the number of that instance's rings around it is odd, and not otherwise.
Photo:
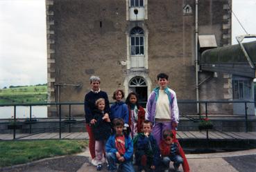
[(148, 97), (145, 118), (153, 123), (152, 133), (159, 145), (162, 132), (178, 126), (179, 111), (176, 93), (167, 87), (168, 75), (160, 73), (157, 81), (159, 86)]

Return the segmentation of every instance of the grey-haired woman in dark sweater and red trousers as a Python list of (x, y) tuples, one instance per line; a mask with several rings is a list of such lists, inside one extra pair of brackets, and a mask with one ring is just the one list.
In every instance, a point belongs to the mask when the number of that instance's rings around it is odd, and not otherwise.
[(104, 91), (100, 89), (100, 78), (96, 76), (92, 76), (89, 78), (90, 84), (91, 84), (91, 90), (89, 93), (85, 95), (85, 127), (87, 130), (87, 133), (89, 135), (89, 153), (92, 157), (92, 164), (94, 166), (97, 165), (97, 161), (95, 160), (95, 139), (94, 135), (92, 133), (92, 126), (96, 120), (94, 120), (94, 114), (93, 112), (96, 111), (97, 107), (95, 105), (95, 102), (99, 98), (105, 99), (105, 108), (104, 108), (104, 116), (109, 117), (110, 112), (110, 102), (108, 101), (108, 95)]

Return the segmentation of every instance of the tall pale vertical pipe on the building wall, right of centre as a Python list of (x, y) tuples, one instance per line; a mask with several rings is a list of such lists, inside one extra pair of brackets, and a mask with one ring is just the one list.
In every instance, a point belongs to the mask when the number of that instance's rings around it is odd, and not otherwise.
[[(199, 100), (198, 90), (198, 0), (196, 0), (196, 16), (195, 16), (195, 65), (196, 65), (196, 101)], [(199, 104), (196, 104), (197, 113), (199, 113)]]

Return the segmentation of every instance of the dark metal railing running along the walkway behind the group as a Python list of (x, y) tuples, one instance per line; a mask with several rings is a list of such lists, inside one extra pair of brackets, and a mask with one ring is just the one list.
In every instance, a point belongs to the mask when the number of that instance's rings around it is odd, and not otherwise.
[[(145, 102), (142, 102), (145, 103)], [(195, 101), (195, 100), (180, 100), (178, 101), (179, 106), (182, 106), (182, 104), (198, 104), (199, 105), (199, 113), (193, 113), (195, 115), (188, 115), (189, 113), (184, 113), (184, 112), (180, 112), (180, 116), (181, 117), (185, 117), (188, 120), (191, 120), (193, 122), (199, 122), (201, 119), (203, 119), (204, 117), (209, 118), (209, 109), (208, 106), (210, 106), (210, 104), (244, 104), (244, 115), (239, 115), (239, 117), (244, 119), (245, 122), (245, 128), (246, 128), (246, 132), (248, 132), (248, 104), (255, 104), (255, 102), (253, 101), (228, 101), (228, 100), (216, 100), (216, 101), (212, 101), (212, 100), (201, 100), (201, 101)], [(32, 133), (32, 125), (37, 123), (37, 121), (35, 121), (32, 118), (32, 109), (33, 106), (56, 106), (57, 108), (57, 114), (58, 114), (58, 118), (51, 118), (53, 121), (52, 122), (58, 122), (58, 127), (53, 127), (53, 128), (47, 128), (44, 129), (44, 131), (37, 131), (35, 133)], [(65, 127), (69, 127), (69, 132), (71, 132), (71, 126), (73, 124), (76, 123), (83, 123), (85, 122), (84, 118), (83, 120), (77, 120), (74, 119), (74, 115), (71, 114), (71, 106), (74, 105), (80, 105), (83, 106), (84, 103), (83, 102), (59, 102), (59, 103), (36, 103), (36, 104), (0, 104), (1, 106), (13, 106), (14, 107), (14, 111), (13, 111), (13, 140), (15, 139), (19, 139), (22, 137), (28, 137), (30, 135), (35, 135), (38, 133), (45, 133), (46, 131), (56, 131), (59, 130), (59, 138), (62, 138), (62, 128)], [(16, 108), (17, 106), (29, 106), (29, 119), (26, 120), (26, 124), (29, 124), (29, 135), (26, 136), (22, 136), (17, 138), (16, 137), (16, 130), (17, 130), (17, 112), (16, 112)], [(67, 116), (65, 116), (65, 118), (62, 117), (62, 106), (69, 106), (69, 114)], [(196, 108), (195, 108), (196, 109)], [(213, 117), (213, 116), (211, 116)], [(222, 115), (222, 117), (225, 117), (224, 115)], [(227, 115), (226, 117), (230, 117), (230, 115)], [(235, 115), (233, 115), (233, 117), (235, 117)], [(64, 120), (63, 120), (64, 119)], [(10, 120), (10, 119), (9, 119)], [(25, 119), (24, 119), (25, 120)], [(0, 120), (1, 121), (1, 120)], [(2, 123), (2, 122), (1, 122)], [(65, 123), (65, 125), (63, 125), (63, 123)], [(207, 131), (207, 139), (208, 139), (208, 131)]]

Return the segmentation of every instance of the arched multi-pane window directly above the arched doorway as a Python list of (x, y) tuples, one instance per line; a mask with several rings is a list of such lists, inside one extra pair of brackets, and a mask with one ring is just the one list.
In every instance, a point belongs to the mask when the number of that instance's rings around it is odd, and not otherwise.
[(144, 30), (135, 27), (130, 30), (130, 55), (144, 55)]

